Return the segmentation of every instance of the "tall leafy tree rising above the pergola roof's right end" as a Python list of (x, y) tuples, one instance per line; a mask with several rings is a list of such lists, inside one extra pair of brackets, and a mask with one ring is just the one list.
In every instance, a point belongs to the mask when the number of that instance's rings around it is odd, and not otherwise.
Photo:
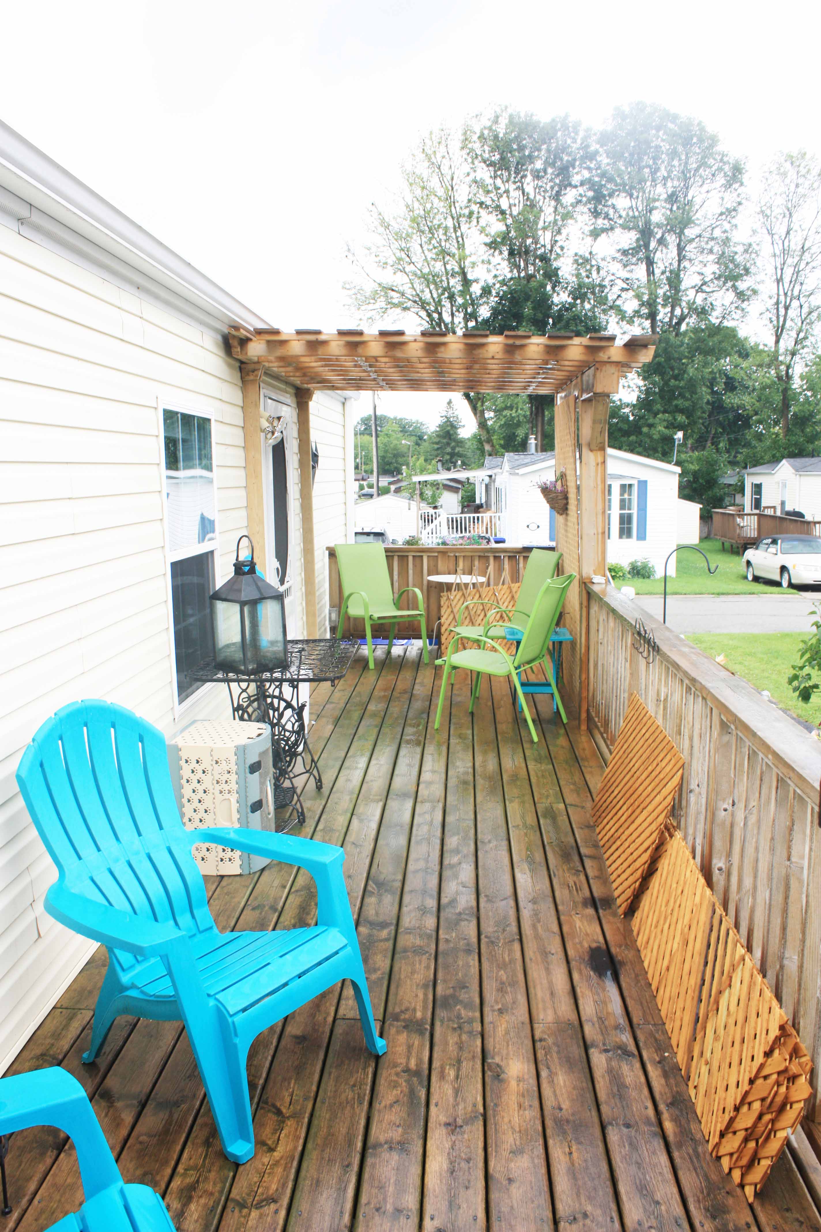
[(750, 293), (742, 164), (699, 121), (646, 102), (618, 107), (598, 140), (590, 208), (617, 245), (622, 315), (651, 334), (727, 320)]

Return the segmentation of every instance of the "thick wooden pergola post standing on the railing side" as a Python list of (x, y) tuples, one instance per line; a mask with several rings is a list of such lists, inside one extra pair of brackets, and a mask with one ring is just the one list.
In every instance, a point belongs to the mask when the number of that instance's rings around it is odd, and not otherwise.
[(581, 671), (579, 726), (587, 731), (588, 596), (586, 583), (607, 577), (607, 419), (619, 389), (619, 365), (596, 363), (582, 372), (579, 402), (579, 564)]

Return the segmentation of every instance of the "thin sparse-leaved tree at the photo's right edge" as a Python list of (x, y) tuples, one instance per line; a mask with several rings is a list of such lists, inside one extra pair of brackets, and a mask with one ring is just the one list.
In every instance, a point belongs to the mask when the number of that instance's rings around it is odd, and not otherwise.
[(821, 313), (821, 166), (800, 150), (764, 175), (758, 216), (766, 246), (766, 317), (780, 393), (782, 437), (790, 428), (798, 368)]

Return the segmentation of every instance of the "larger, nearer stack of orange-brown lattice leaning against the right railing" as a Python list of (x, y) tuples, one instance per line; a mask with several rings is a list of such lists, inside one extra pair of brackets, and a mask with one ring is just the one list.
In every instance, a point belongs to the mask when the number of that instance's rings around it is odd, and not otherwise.
[(633, 931), (710, 1152), (752, 1200), (804, 1114), (811, 1062), (672, 827)]

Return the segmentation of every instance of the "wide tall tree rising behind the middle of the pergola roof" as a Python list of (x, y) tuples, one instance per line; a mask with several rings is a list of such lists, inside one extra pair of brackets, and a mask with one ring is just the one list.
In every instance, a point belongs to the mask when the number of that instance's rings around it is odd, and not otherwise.
[[(447, 333), (601, 329), (601, 285), (588, 281), (590, 262), (565, 254), (587, 145), (566, 116), (508, 111), (426, 137), (402, 168), (394, 207), (372, 207), (364, 255), (351, 254), (356, 308)], [(486, 395), (464, 397), (491, 453)]]

